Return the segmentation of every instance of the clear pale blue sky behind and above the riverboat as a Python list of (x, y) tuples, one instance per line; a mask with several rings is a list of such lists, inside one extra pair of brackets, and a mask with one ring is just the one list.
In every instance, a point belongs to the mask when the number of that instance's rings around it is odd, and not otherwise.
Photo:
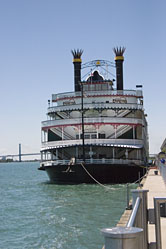
[[(124, 86), (143, 85), (150, 153), (165, 139), (164, 0), (0, 0), (0, 155), (40, 150), (52, 93), (73, 90), (71, 49), (114, 60), (125, 46)], [(115, 73), (115, 72), (113, 72)]]

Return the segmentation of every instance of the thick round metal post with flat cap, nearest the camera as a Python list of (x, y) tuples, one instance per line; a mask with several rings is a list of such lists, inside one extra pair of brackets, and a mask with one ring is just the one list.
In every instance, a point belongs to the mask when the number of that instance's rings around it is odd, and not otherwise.
[(101, 230), (105, 249), (140, 249), (143, 229), (137, 227), (113, 227)]

